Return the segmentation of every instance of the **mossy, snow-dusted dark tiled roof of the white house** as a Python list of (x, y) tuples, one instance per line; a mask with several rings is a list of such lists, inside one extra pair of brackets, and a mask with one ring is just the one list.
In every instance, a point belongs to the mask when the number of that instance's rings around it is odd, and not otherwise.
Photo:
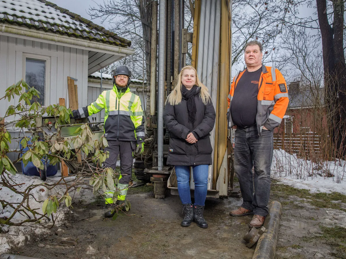
[(131, 41), (45, 0), (1, 0), (0, 23), (130, 47)]

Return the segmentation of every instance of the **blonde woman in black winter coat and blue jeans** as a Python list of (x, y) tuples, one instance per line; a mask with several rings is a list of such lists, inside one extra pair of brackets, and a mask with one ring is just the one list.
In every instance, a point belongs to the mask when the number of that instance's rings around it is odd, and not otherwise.
[[(170, 133), (167, 164), (175, 166), (178, 192), (185, 217), (181, 226), (194, 220), (200, 228), (208, 228), (203, 218), (207, 196), (208, 165), (212, 146), (209, 132), (215, 124), (215, 110), (208, 89), (198, 79), (192, 66), (185, 66), (168, 96), (163, 121)], [(194, 205), (190, 195), (190, 166), (194, 179)]]

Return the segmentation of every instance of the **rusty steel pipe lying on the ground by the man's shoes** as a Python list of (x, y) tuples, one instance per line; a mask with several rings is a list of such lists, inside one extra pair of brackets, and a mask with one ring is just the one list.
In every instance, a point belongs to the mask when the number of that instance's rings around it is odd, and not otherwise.
[(274, 259), (280, 218), (281, 203), (273, 201), (269, 205), (269, 214), (267, 215), (263, 224), (263, 226), (266, 228), (266, 232), (264, 232), (260, 239), (258, 239), (252, 259)]

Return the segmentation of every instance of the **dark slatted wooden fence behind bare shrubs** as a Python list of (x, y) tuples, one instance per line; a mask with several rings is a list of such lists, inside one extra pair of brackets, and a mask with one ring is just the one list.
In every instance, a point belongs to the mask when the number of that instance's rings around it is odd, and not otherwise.
[(322, 151), (321, 136), (316, 133), (274, 134), (274, 149), (283, 149), (299, 157), (314, 158)]

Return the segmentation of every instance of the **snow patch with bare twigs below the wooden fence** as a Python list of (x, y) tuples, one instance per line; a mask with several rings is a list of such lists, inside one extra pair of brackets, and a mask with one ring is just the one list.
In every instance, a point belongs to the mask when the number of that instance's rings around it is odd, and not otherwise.
[(294, 188), (346, 194), (345, 167), (344, 160), (316, 164), (279, 149), (274, 150), (271, 174), (272, 178)]

